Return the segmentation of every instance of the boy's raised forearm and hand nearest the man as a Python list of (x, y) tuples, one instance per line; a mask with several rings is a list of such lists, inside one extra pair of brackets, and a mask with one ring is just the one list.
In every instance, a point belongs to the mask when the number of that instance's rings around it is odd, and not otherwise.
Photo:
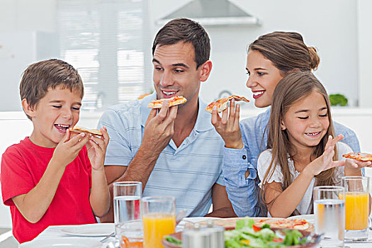
[(101, 128), (102, 137), (91, 136), (86, 148), (91, 162), (91, 192), (89, 202), (94, 215), (105, 215), (110, 207), (110, 191), (106, 181), (104, 169), (105, 154), (108, 145), (106, 128)]

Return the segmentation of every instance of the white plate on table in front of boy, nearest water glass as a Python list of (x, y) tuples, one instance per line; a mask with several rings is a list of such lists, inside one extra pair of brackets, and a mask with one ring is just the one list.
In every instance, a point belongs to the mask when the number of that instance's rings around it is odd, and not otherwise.
[(67, 235), (74, 236), (89, 236), (99, 237), (107, 236), (114, 232), (115, 226), (113, 223), (97, 223), (97, 224), (86, 224), (86, 225), (72, 225), (63, 228), (61, 231)]

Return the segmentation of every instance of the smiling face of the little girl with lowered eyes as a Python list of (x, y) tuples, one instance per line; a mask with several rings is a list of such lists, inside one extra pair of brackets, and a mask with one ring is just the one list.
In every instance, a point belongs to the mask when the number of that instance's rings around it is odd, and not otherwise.
[(284, 115), (281, 129), (287, 130), (294, 147), (315, 147), (327, 133), (328, 108), (325, 98), (318, 91), (300, 98)]

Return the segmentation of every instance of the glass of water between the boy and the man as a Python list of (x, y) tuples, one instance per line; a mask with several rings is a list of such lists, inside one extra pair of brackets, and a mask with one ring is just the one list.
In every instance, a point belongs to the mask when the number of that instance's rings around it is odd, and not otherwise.
[[(139, 242), (139, 237), (141, 237), (141, 239), (143, 237), (140, 205), (141, 196), (142, 183), (139, 181), (120, 181), (113, 184), (115, 235), (120, 242), (123, 240), (129, 243)], [(135, 225), (136, 223), (137, 225)], [(138, 223), (140, 225), (138, 225)], [(129, 227), (135, 227), (134, 229), (132, 228), (135, 231), (133, 232)], [(128, 245), (122, 247), (134, 246)]]

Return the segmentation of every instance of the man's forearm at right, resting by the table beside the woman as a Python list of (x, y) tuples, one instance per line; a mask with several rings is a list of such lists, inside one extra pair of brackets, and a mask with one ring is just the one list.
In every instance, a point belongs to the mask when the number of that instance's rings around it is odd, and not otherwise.
[(229, 218), (237, 217), (232, 205), (227, 198), (226, 188), (220, 184), (215, 183), (212, 188), (212, 204), (213, 211), (205, 215), (207, 217), (220, 217), (220, 218)]

